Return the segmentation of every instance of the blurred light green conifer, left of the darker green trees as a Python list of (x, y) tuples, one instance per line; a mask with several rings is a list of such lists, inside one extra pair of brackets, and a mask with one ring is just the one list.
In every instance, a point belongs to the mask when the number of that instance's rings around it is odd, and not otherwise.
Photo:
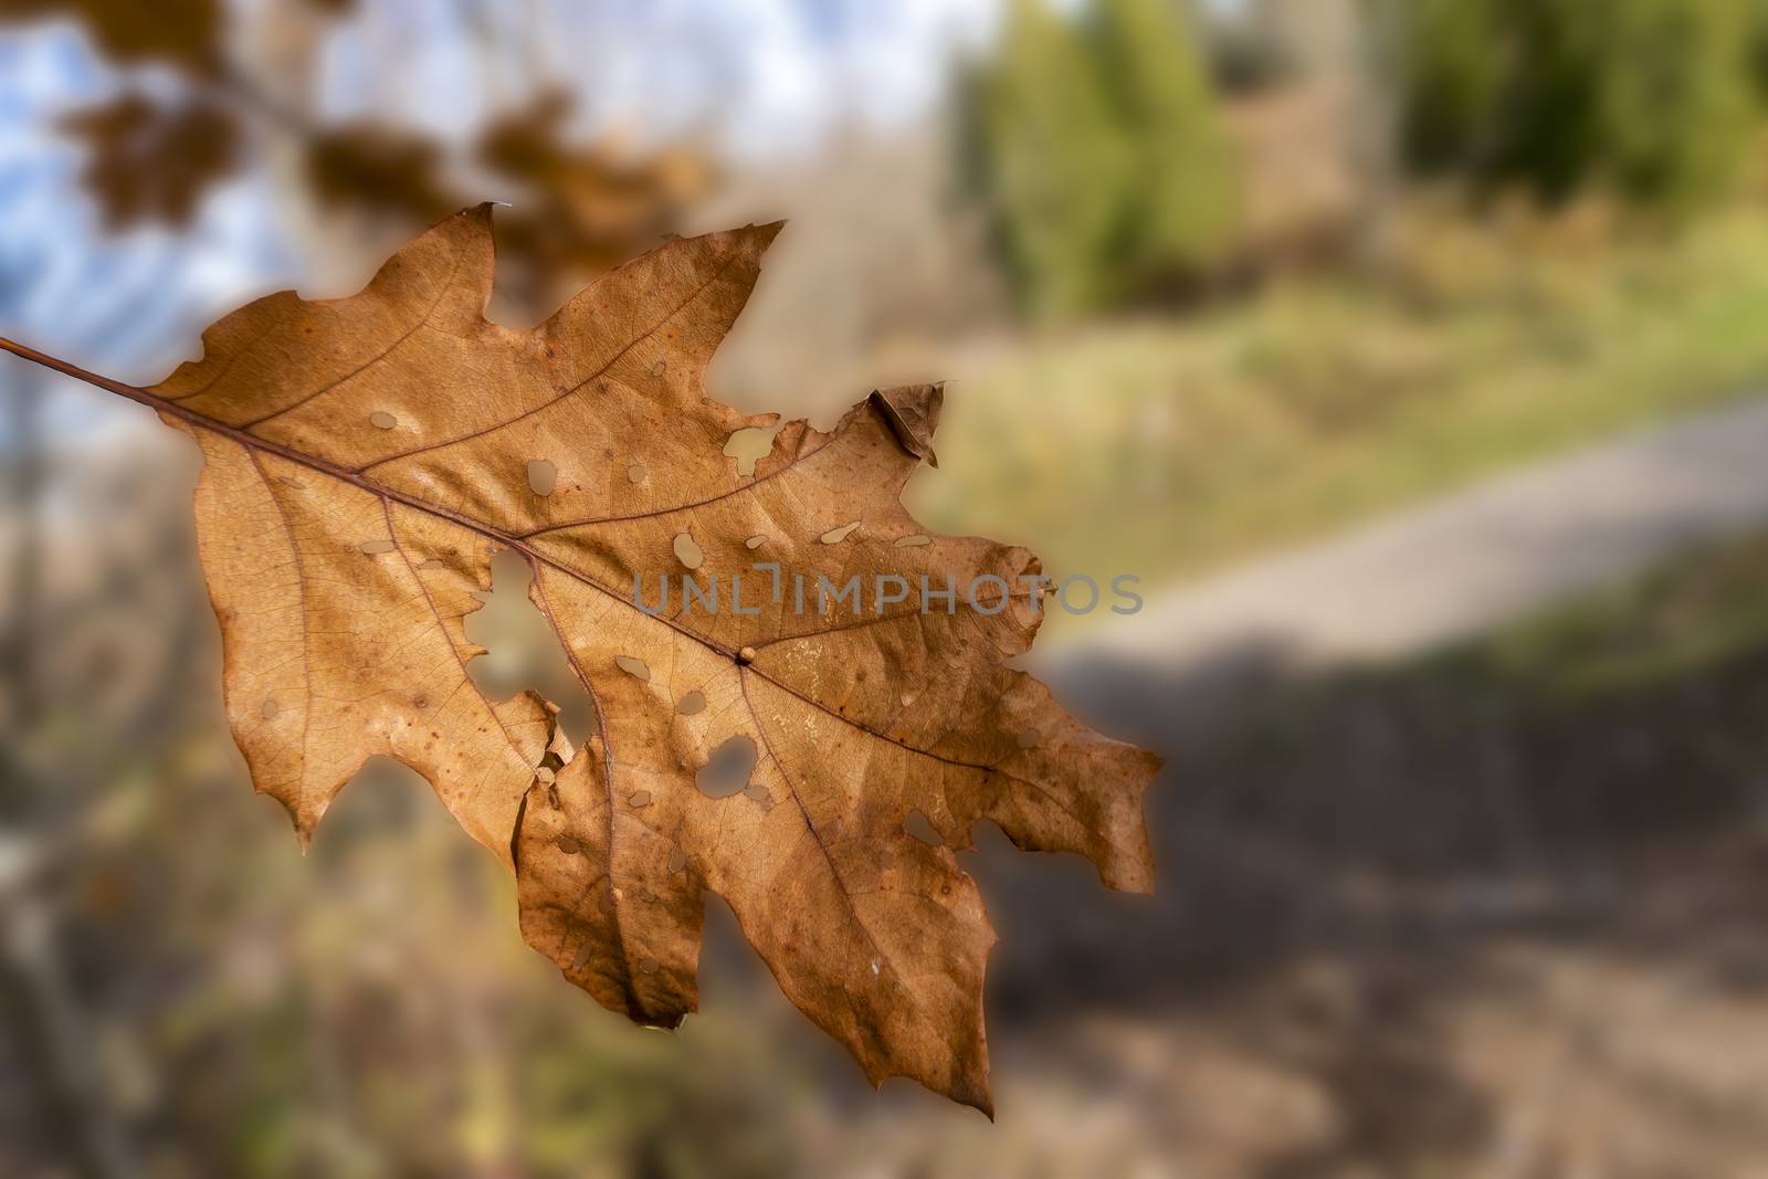
[(971, 80), (964, 157), (1029, 311), (1117, 304), (1220, 256), (1234, 203), (1211, 106), (1167, 0), (1100, 0), (1080, 19), (1015, 0)]

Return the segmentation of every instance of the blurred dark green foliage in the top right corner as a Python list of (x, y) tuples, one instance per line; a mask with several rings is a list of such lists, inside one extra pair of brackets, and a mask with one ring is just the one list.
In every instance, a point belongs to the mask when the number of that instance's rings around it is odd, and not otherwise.
[(1409, 0), (1402, 140), (1425, 175), (1589, 187), (1680, 210), (1722, 193), (1756, 127), (1754, 0)]

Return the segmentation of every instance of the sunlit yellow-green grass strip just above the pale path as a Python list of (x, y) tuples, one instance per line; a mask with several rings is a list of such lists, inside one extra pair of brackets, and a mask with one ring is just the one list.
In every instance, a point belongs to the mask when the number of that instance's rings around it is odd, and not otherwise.
[(1641, 240), (1421, 219), (1381, 279), (1027, 339), (955, 382), (930, 527), (1195, 574), (1759, 391), (1768, 219)]

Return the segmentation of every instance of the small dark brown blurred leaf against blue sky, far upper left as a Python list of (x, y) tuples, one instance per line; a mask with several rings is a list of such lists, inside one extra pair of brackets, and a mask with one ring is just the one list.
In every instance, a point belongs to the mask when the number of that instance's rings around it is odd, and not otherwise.
[(129, 94), (76, 111), (62, 126), (88, 148), (81, 180), (111, 230), (189, 221), (239, 156), (239, 126), (209, 103), (164, 108)]

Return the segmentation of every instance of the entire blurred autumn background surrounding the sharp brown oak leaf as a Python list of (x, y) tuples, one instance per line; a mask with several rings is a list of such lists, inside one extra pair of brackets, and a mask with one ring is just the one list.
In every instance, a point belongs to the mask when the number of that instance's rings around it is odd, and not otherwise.
[(193, 447), (4, 361), (0, 1174), (1768, 1175), (1768, 4), (0, 0), (0, 334), (149, 384), (479, 200), (500, 322), (790, 217), (714, 392), (951, 382), (918, 514), (1142, 578), (1038, 668), (1160, 896), (978, 834), (992, 1126), (718, 901), (635, 1029), (407, 771), (301, 857)]

